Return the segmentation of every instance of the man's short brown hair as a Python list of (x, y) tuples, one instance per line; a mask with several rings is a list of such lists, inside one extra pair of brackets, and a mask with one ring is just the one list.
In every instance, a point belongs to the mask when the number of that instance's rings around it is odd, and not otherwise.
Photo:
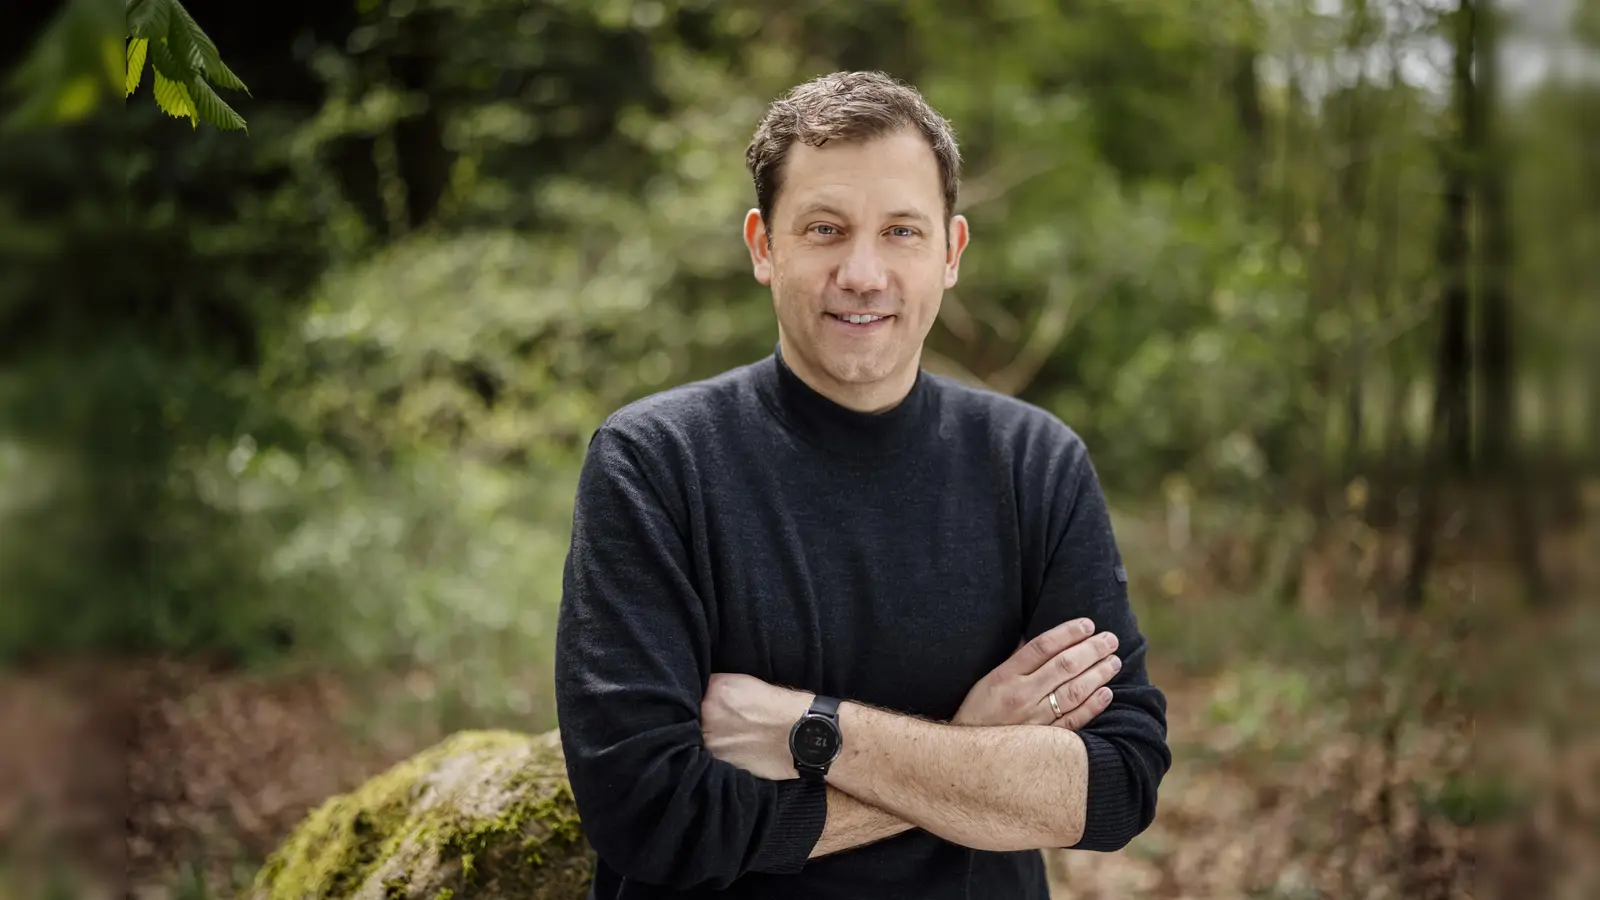
[(773, 101), (744, 151), (746, 167), (755, 179), (755, 205), (768, 234), (784, 183), (784, 160), (795, 141), (821, 147), (827, 141), (867, 141), (901, 128), (917, 128), (933, 147), (949, 223), (962, 183), (962, 151), (950, 123), (917, 88), (883, 72), (834, 72)]

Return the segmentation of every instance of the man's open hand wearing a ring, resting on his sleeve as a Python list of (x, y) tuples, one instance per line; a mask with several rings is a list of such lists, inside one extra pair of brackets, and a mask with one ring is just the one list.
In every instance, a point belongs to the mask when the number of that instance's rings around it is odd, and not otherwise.
[[(1110, 705), (1110, 679), (1122, 669), (1117, 636), (1094, 634), (1077, 618), (1021, 644), (1016, 653), (966, 693), (952, 725), (1061, 725), (1082, 729)], [(1050, 693), (1056, 706), (1050, 705)]]

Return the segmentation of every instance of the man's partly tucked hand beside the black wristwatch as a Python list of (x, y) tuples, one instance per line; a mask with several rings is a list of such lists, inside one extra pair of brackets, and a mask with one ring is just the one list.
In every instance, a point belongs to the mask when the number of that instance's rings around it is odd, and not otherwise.
[(706, 749), (758, 778), (798, 778), (789, 729), (811, 708), (811, 693), (766, 684), (755, 676), (710, 676), (701, 700)]

